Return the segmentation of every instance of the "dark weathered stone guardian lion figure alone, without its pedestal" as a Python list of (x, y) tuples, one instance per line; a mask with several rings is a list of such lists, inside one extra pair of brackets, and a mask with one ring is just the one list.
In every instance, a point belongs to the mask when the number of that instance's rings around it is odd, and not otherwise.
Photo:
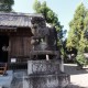
[(32, 19), (32, 40), (34, 51), (56, 51), (57, 32), (54, 26), (47, 26), (43, 18)]

